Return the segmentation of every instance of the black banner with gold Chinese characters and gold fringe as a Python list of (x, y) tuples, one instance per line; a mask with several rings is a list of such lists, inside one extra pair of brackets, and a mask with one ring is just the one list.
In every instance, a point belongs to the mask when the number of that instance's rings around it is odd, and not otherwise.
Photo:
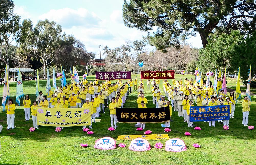
[(119, 123), (163, 123), (170, 120), (170, 108), (116, 108)]

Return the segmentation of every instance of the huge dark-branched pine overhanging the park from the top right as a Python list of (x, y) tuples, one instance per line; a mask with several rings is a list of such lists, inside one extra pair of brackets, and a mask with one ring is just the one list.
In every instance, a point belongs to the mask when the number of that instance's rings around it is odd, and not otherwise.
[[(125, 0), (123, 20), (127, 27), (153, 31), (147, 40), (158, 50), (178, 46), (180, 39), (200, 34), (205, 48), (213, 30), (230, 32), (239, 29), (245, 34), (255, 30), (255, 0)], [(155, 27), (157, 30), (155, 30)], [(178, 45), (177, 45), (178, 44)]]

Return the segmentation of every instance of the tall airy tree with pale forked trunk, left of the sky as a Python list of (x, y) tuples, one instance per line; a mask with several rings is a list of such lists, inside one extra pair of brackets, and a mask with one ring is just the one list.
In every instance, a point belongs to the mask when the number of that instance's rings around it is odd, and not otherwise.
[(22, 36), (25, 39), (21, 40), (23, 43), (21, 47), (41, 58), (43, 72), (46, 75), (46, 66), (54, 60), (56, 50), (60, 44), (61, 26), (47, 19), (38, 21), (34, 29), (30, 20), (24, 20), (23, 25), (29, 28), (22, 29)]

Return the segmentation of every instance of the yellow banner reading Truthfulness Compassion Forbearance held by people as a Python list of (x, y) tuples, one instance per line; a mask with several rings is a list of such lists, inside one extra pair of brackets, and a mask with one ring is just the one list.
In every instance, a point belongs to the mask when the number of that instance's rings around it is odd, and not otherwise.
[(54, 127), (91, 125), (91, 112), (85, 108), (37, 107), (37, 123)]

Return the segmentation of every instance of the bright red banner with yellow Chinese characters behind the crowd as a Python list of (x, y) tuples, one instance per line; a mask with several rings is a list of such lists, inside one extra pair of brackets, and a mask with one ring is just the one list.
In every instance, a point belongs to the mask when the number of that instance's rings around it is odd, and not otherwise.
[(174, 70), (141, 71), (141, 79), (174, 79)]

